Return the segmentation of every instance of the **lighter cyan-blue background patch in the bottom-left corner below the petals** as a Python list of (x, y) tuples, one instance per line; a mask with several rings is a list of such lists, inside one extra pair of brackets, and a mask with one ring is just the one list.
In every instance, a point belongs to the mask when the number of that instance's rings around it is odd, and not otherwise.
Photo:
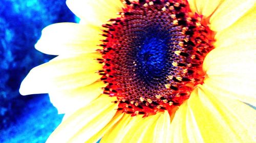
[(47, 95), (36, 95), (20, 107), (17, 122), (9, 128), (0, 130), (0, 142), (45, 142), (51, 132), (58, 126), (63, 115), (57, 115)]

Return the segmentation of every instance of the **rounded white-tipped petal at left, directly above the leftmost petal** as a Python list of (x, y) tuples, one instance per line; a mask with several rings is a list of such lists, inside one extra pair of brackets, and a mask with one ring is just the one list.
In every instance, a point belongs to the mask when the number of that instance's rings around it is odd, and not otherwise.
[(104, 39), (100, 34), (100, 28), (86, 24), (56, 23), (42, 30), (35, 48), (54, 55), (95, 52)]

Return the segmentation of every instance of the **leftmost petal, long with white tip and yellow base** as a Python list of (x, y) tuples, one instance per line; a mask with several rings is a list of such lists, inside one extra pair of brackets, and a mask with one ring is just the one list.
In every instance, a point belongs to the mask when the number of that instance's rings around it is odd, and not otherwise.
[(23, 80), (19, 92), (22, 95), (49, 93), (91, 84), (101, 77), (95, 73), (101, 69), (95, 58), (100, 58), (100, 54), (58, 56), (46, 64), (33, 68)]

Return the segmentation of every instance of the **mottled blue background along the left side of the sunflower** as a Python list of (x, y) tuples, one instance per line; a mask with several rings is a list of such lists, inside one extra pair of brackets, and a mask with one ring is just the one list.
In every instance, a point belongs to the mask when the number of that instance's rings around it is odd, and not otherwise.
[[(76, 20), (65, 0), (0, 1), (0, 138), (10, 137), (14, 139), (11, 142), (15, 142), (15, 137), (23, 137), (28, 140), (18, 142), (45, 142), (59, 124), (61, 116), (56, 114), (56, 109), (46, 99), (47, 95), (24, 97), (19, 95), (18, 89), (30, 69), (54, 57), (34, 49), (42, 28), (52, 23)], [(34, 109), (29, 108), (31, 106)], [(44, 128), (38, 128), (42, 126)], [(30, 135), (32, 130), (37, 133)], [(0, 139), (0, 142), (3, 141)]]

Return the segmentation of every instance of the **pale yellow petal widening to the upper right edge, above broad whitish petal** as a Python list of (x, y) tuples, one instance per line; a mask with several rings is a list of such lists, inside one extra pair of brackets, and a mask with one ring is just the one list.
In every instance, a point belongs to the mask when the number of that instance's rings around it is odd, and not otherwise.
[[(223, 31), (216, 34), (215, 47), (225, 48), (230, 46), (232, 48), (255, 49), (256, 45), (256, 5), (237, 22)], [(236, 46), (237, 45), (237, 46)]]

